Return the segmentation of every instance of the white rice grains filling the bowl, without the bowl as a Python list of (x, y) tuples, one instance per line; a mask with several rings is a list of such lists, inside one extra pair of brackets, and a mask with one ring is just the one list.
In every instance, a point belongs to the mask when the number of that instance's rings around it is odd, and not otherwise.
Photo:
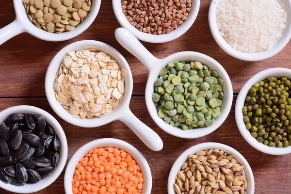
[(284, 6), (281, 0), (221, 0), (216, 10), (217, 28), (238, 51), (271, 49), (286, 28)]

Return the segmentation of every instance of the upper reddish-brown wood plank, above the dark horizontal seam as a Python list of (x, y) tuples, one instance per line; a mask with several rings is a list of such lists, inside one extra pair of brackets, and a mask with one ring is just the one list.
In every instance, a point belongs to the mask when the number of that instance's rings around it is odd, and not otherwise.
[[(15, 17), (12, 2), (5, 2), (3, 5), (0, 7), (0, 28), (12, 22)], [(290, 67), (288, 62), (291, 57), (288, 50), (291, 49), (291, 43), (275, 57), (261, 62), (244, 62), (223, 52), (209, 29), (209, 5), (210, 0), (201, 1), (200, 12), (194, 25), (178, 39), (162, 44), (143, 44), (158, 58), (186, 50), (209, 55), (228, 72), (234, 93), (238, 93), (242, 85), (261, 70)], [(133, 94), (144, 94), (147, 69), (115, 40), (114, 31), (118, 27), (120, 25), (113, 14), (112, 1), (102, 0), (100, 12), (92, 26), (71, 40), (46, 42), (27, 33), (12, 38), (0, 46), (0, 97), (44, 97), (45, 74), (53, 56), (66, 45), (85, 39), (105, 42), (119, 50), (131, 67)]]

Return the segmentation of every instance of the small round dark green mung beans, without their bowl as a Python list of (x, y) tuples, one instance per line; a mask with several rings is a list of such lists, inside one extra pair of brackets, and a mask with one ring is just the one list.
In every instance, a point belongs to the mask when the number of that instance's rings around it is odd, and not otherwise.
[[(220, 79), (217, 78), (219, 87), (223, 85)], [(217, 92), (220, 91), (219, 87)], [(290, 89), (290, 79), (275, 76), (254, 83), (249, 89), (242, 108), (243, 121), (258, 142), (271, 147), (291, 146)], [(210, 87), (211, 92), (215, 90)]]

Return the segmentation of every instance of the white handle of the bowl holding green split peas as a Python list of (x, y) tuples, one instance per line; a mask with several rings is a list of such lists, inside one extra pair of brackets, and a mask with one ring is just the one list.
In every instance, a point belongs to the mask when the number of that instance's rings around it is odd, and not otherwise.
[(146, 65), (149, 71), (154, 68), (153, 64), (159, 59), (154, 57), (132, 33), (125, 28), (117, 28), (115, 30), (115, 38), (122, 47)]

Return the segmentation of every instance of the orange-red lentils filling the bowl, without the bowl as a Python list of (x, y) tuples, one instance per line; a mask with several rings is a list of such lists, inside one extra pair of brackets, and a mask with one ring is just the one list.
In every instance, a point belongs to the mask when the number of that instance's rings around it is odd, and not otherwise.
[(139, 194), (143, 174), (131, 155), (117, 147), (90, 150), (76, 165), (73, 194)]

